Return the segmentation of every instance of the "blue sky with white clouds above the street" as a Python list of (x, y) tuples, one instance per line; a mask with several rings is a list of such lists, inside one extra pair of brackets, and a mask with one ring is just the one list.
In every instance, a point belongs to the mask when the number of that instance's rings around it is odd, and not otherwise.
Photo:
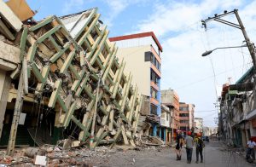
[[(135, 32), (151, 32), (163, 46), (161, 89), (175, 89), (180, 101), (195, 104), (195, 117), (207, 126), (216, 126), (218, 111), (213, 103), (222, 84), (236, 83), (252, 66), (247, 48), (218, 49), (207, 57), (205, 50), (240, 46), (241, 30), (218, 22), (201, 20), (224, 10), (238, 9), (252, 42), (256, 40), (256, 1), (250, 0), (27, 0), (38, 10), (36, 20), (51, 14), (72, 14), (98, 7), (101, 20), (108, 25), (110, 37)], [(236, 22), (234, 15), (224, 18)], [(214, 77), (215, 76), (215, 77)]]

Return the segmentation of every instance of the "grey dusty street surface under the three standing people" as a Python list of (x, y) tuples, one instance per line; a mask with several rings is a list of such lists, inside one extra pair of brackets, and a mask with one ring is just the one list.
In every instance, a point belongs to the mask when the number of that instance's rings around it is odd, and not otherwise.
[(249, 164), (240, 155), (234, 151), (227, 151), (223, 144), (218, 141), (210, 141), (204, 150), (204, 163), (195, 164), (195, 149), (191, 164), (187, 164), (185, 149), (181, 161), (176, 160), (174, 148), (155, 148), (142, 151), (128, 150), (125, 152), (113, 153), (108, 159), (107, 164), (102, 166), (209, 166), (209, 167), (246, 167), (253, 166)]

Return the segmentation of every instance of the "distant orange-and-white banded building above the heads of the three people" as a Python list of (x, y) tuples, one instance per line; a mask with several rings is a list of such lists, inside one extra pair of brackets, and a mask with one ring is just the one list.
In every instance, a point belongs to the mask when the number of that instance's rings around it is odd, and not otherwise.
[(194, 111), (194, 104), (179, 103), (180, 130), (183, 130), (183, 132), (194, 129)]

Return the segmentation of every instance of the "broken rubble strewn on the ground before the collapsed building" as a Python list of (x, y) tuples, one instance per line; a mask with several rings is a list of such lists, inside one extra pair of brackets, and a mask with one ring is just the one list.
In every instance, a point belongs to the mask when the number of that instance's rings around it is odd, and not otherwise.
[[(6, 165), (22, 165), (36, 166), (36, 158), (38, 153), (34, 153), (31, 157), (26, 155), (26, 150), (16, 150), (13, 157), (7, 156), (5, 151), (0, 152), (0, 164)], [(115, 149), (109, 147), (96, 147), (95, 150), (90, 150), (88, 147), (75, 148), (70, 150), (61, 150), (61, 147), (47, 146), (39, 148), (39, 152), (44, 151), (47, 166), (69, 166), (69, 165), (99, 165), (108, 162), (108, 158), (112, 153), (116, 153)]]

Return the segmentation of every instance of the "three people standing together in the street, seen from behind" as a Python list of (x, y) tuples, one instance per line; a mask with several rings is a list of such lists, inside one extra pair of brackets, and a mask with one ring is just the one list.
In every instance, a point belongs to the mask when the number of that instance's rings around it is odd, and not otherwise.
[(189, 131), (187, 136), (184, 138), (181, 131), (177, 130), (177, 145), (176, 145), (176, 154), (177, 154), (177, 160), (181, 160), (182, 157), (182, 147), (185, 146), (186, 153), (187, 153), (187, 163), (190, 164), (192, 160), (192, 153), (193, 153), (193, 147), (195, 145), (195, 153), (196, 153), (196, 161), (195, 163), (199, 162), (199, 155), (201, 158), (201, 163), (203, 162), (203, 148), (205, 147), (205, 144), (203, 140), (201, 139), (201, 133), (197, 133), (195, 137), (192, 137), (192, 132)]

